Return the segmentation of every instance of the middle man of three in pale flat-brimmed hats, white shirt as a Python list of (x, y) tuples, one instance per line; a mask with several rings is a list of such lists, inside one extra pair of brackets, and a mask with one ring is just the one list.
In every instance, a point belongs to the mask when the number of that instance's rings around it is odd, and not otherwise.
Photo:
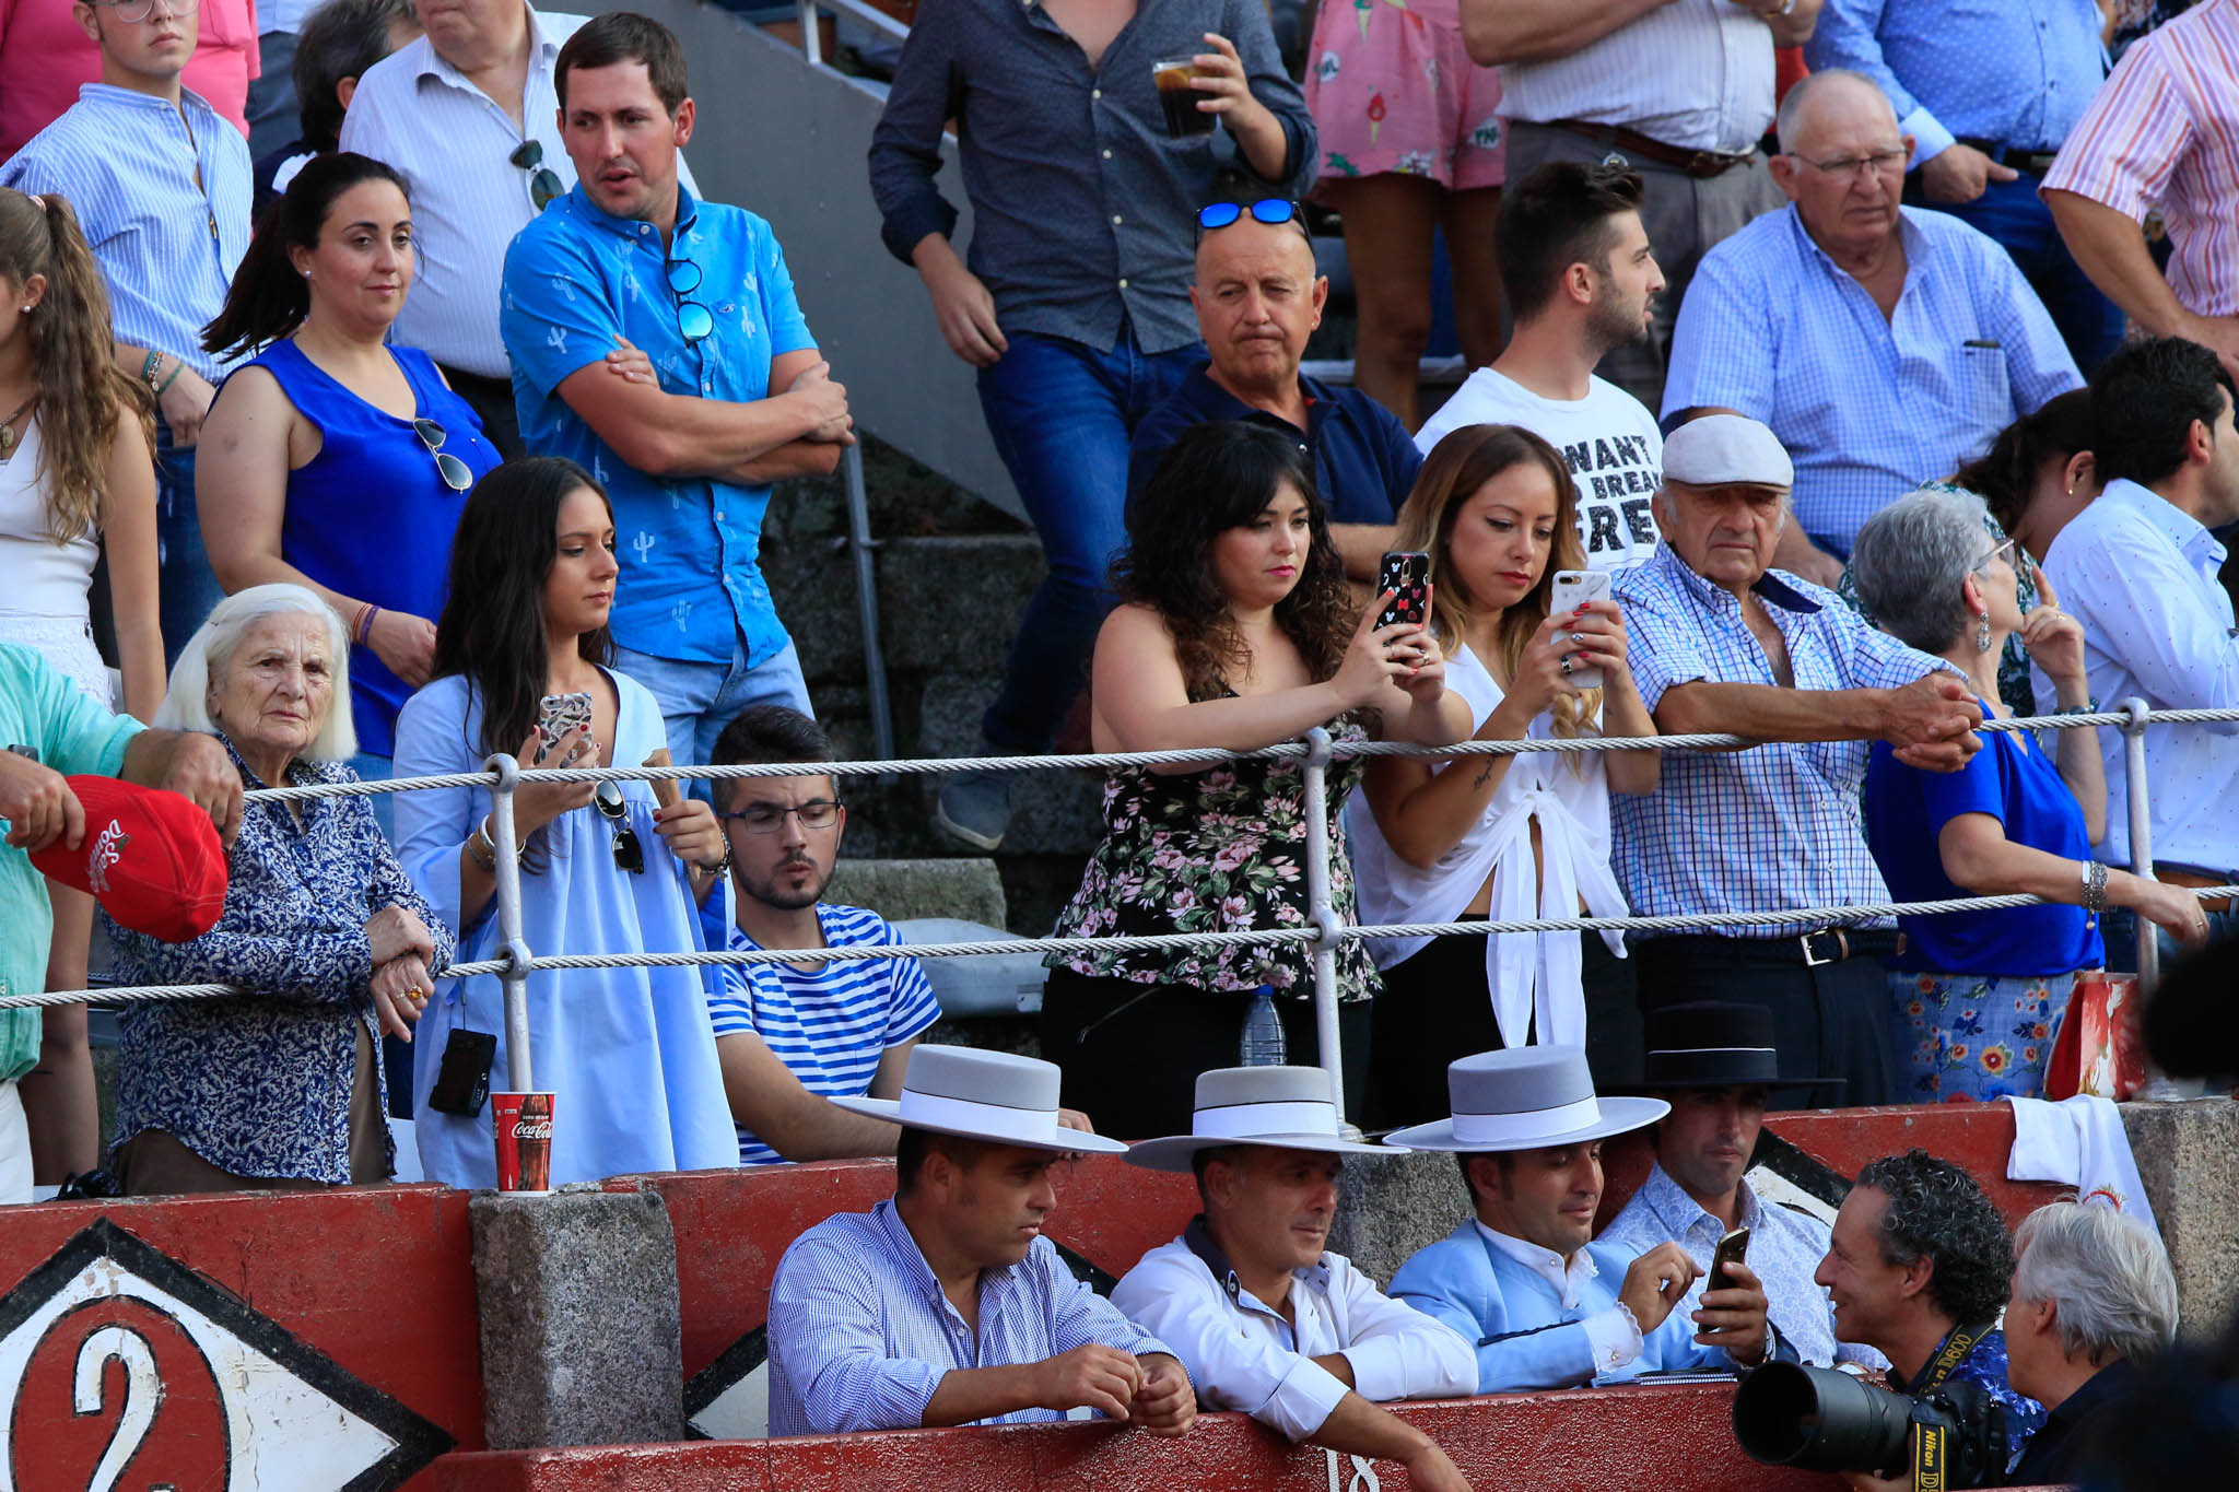
[(1330, 1074), (1227, 1067), (1198, 1076), (1189, 1134), (1144, 1141), (1131, 1165), (1189, 1170), (1205, 1212), (1113, 1288), (1171, 1342), (1211, 1409), (1243, 1409), (1292, 1441), (1399, 1461), (1424, 1492), (1467, 1490), (1453, 1461), (1377, 1400), (1478, 1391), (1469, 1342), (1377, 1291), (1325, 1250), (1348, 1154)]

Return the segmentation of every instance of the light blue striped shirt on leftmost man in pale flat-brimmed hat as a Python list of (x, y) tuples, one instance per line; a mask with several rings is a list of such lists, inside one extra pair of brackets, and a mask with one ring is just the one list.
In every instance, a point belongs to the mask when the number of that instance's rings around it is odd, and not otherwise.
[[(1046, 1362), (1088, 1342), (1173, 1356), (1075, 1279), (1046, 1237), (1023, 1262), (981, 1273), (978, 1315), (974, 1338), (891, 1199), (824, 1219), (793, 1239), (770, 1282), (770, 1434), (916, 1429), (958, 1367)], [(1019, 1409), (981, 1423), (1061, 1418)]]

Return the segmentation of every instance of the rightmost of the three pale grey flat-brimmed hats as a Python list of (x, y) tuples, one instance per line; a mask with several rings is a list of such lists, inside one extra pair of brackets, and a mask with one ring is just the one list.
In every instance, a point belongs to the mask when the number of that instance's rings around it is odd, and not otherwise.
[[(1661, 1098), (1599, 1098), (1581, 1047), (1511, 1047), (1446, 1065), (1453, 1116), (1393, 1130), (1408, 1150), (1547, 1150), (1639, 1130), (1670, 1114)], [(1133, 1156), (1131, 1156), (1133, 1159)]]

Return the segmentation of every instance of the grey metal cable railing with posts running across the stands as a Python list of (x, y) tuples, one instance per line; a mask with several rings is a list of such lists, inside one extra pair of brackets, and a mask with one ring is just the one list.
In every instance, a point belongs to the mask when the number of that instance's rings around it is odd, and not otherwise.
[[(2143, 700), (2129, 700), (2120, 711), (2035, 716), (2015, 720), (1984, 720), (1984, 731), (2013, 729), (2085, 729), (2118, 727), (2125, 736), (2125, 776), (2129, 790), (2129, 837), (2132, 866), (2138, 875), (2152, 877), (2152, 816), (2149, 787), (2145, 781), (2145, 729), (2152, 725), (2208, 725), (2239, 723), (2239, 709), (2147, 709)], [(1462, 740), (1446, 747), (1420, 747), (1404, 743), (1350, 743), (1334, 745), (1323, 729), (1314, 729), (1305, 740), (1281, 743), (1258, 752), (1222, 749), (1178, 749), (1178, 752), (1102, 752), (1084, 756), (983, 756), (983, 758), (911, 758), (911, 761), (835, 761), (835, 763), (775, 763), (750, 767), (549, 767), (522, 769), (510, 756), (493, 756), (486, 772), (450, 772), (439, 776), (392, 778), (381, 783), (320, 783), (305, 787), (264, 787), (244, 794), (249, 803), (275, 803), (289, 799), (360, 796), (374, 792), (425, 792), (439, 787), (481, 787), (490, 792), (497, 832), (497, 910), (502, 957), (459, 962), (437, 973), (441, 980), (463, 980), (475, 975), (497, 975), (506, 986), (506, 1058), (508, 1078), (515, 1092), (533, 1092), (528, 1063), (528, 1016), (526, 978), (551, 969), (631, 969), (631, 966), (703, 966), (703, 964), (828, 964), (849, 960), (898, 960), (898, 957), (978, 957), (1019, 953), (1164, 953), (1178, 948), (1220, 946), (1270, 946), (1303, 944), (1314, 951), (1314, 1004), (1321, 1031), (1323, 1067), (1330, 1071), (1332, 1092), (1343, 1094), (1343, 1071), (1337, 1042), (1337, 951), (1346, 942), (1377, 937), (1487, 937), (1496, 933), (1684, 933), (1742, 926), (1800, 926), (1832, 928), (1885, 917), (1934, 917), (1948, 913), (1982, 913), (2017, 906), (2037, 906), (2046, 897), (1999, 895), (1999, 897), (1955, 897), (1943, 901), (1883, 901), (1854, 906), (1802, 906), (1749, 913), (1695, 913), (1679, 917), (1534, 917), (1516, 922), (1408, 922), (1346, 926), (1337, 919), (1330, 888), (1330, 834), (1323, 805), (1325, 772), (1332, 761), (1350, 756), (1520, 756), (1525, 752), (1684, 752), (1684, 749), (1751, 749), (1764, 745), (1744, 736), (1693, 734), (1693, 736), (1581, 736), (1581, 738), (1527, 738), (1527, 740)], [(990, 942), (949, 944), (862, 944), (851, 948), (759, 948), (759, 951), (694, 951), (694, 953), (549, 953), (535, 955), (522, 942), (519, 931), (519, 857), (513, 839), (513, 794), (522, 783), (609, 783), (609, 781), (725, 781), (755, 776), (884, 776), (884, 774), (934, 774), (958, 769), (1037, 772), (1037, 769), (1111, 769), (1111, 767), (1164, 767), (1164, 765), (1218, 765), (1225, 761), (1299, 761), (1305, 772), (1305, 839), (1308, 839), (1308, 915), (1310, 926), (1299, 928), (1236, 928), (1220, 933), (1160, 933), (1126, 937), (1010, 937)], [(2194, 893), (2201, 899), (2239, 897), (2239, 886), (2210, 886)], [(2140, 980), (2152, 982), (2154, 939), (2138, 944)], [(242, 998), (249, 991), (231, 984), (161, 984), (161, 986), (112, 986), (81, 991), (49, 991), (36, 995), (0, 995), (0, 1009), (36, 1009), (49, 1004), (141, 1004), (157, 1000), (222, 1000)]]

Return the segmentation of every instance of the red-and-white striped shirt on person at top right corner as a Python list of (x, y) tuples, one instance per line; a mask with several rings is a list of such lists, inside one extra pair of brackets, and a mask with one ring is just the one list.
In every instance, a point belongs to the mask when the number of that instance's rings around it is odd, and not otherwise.
[(2205, 0), (2123, 54), (2044, 177), (2138, 221), (2158, 208), (2170, 289), (2194, 315), (2239, 313), (2235, 101), (2239, 0)]

